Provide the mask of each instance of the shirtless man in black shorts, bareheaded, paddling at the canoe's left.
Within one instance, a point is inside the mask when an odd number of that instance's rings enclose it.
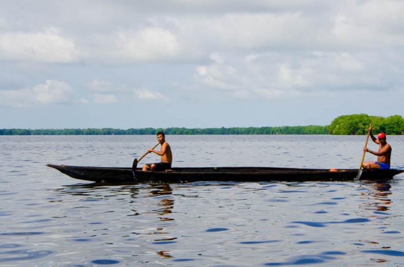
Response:
[[[161,156],[161,162],[150,163],[143,165],[142,171],[165,171],[171,169],[171,163],[173,162],[173,154],[171,153],[171,147],[166,142],[166,137],[163,132],[157,133],[157,140],[161,144],[160,151],[148,149],[147,151],[156,153]]]

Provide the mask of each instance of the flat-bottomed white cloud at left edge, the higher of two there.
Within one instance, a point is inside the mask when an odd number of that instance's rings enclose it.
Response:
[[[73,63],[78,61],[78,54],[74,41],[54,28],[43,32],[0,33],[0,60]]]

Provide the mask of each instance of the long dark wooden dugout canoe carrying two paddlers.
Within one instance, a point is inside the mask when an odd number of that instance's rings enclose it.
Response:
[[[70,177],[97,183],[187,183],[196,181],[270,182],[270,181],[353,181],[358,169],[297,169],[271,167],[172,168],[165,172],[143,172],[137,168],[85,167],[48,164]],[[388,180],[404,170],[363,170],[361,180]]]

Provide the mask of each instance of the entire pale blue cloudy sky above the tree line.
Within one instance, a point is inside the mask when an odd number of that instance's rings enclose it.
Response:
[[[0,128],[404,116],[404,1],[2,1]]]

